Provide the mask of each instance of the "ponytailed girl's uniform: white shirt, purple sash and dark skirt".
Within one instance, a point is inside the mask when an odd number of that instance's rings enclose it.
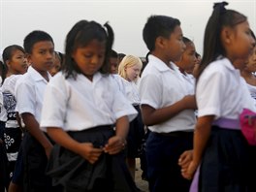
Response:
[[[240,71],[219,57],[201,75],[196,95],[198,116],[214,115],[197,191],[247,191],[248,144],[240,131],[239,115],[243,108],[255,108]]]

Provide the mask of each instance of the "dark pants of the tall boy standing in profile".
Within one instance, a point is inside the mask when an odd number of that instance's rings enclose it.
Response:
[[[190,181],[180,174],[180,154],[192,149],[193,133],[160,135],[151,132],[146,141],[147,176],[150,192],[187,192]]]

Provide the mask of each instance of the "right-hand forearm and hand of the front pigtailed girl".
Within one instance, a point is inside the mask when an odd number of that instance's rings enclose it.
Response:
[[[126,144],[126,136],[129,131],[129,120],[127,116],[122,116],[116,120],[115,136],[110,138],[108,144],[105,145],[104,151],[110,154],[116,154],[124,149]]]

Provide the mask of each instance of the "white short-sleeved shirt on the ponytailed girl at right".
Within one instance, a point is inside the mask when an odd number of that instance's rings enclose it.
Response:
[[[243,108],[254,111],[240,71],[227,58],[221,58],[208,65],[196,87],[198,116],[215,115],[215,119],[238,119]]]

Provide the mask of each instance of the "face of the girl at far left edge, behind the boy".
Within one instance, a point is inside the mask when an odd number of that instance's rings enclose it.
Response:
[[[25,53],[19,49],[14,50],[12,58],[8,61],[8,67],[14,74],[24,74],[28,64]]]

